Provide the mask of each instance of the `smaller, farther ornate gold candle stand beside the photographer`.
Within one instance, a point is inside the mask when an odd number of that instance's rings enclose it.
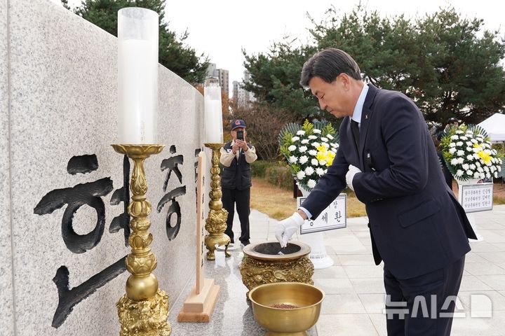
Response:
[[[209,202],[209,214],[206,220],[206,230],[209,232],[206,235],[206,246],[208,249],[207,260],[215,260],[215,246],[224,245],[224,255],[227,257],[231,256],[228,252],[228,245],[230,243],[230,238],[224,234],[227,228],[227,218],[228,211],[222,209],[222,191],[221,191],[221,179],[220,179],[220,148],[223,144],[205,144],[206,147],[211,148],[213,151],[212,157],[212,167],[210,168],[210,202]]]

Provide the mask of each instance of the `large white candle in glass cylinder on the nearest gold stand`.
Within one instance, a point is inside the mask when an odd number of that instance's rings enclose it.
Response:
[[[119,144],[156,144],[159,15],[118,11]]]

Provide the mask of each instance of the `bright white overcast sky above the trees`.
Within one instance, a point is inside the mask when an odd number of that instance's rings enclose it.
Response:
[[[231,97],[231,83],[241,82],[245,70],[242,49],[248,55],[268,52],[272,43],[286,35],[307,44],[308,29],[313,27],[307,13],[321,22],[330,6],[342,15],[360,2],[382,16],[404,14],[407,18],[454,6],[463,17],[483,19],[485,29],[499,29],[505,37],[505,1],[501,0],[166,0],[165,16],[171,31],[182,34],[187,29],[185,42],[197,55],[203,53],[218,69],[229,71]],[[79,3],[69,0],[71,6]]]

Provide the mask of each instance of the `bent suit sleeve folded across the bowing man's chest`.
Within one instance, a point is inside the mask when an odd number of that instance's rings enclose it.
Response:
[[[428,182],[426,123],[417,107],[405,97],[395,97],[385,106],[375,123],[380,123],[389,167],[377,172],[354,176],[356,197],[363,203],[412,195],[424,189]]]

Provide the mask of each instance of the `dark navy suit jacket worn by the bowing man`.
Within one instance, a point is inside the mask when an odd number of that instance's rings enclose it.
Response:
[[[470,251],[476,239],[444,181],[422,113],[400,92],[369,85],[354,145],[349,118],[340,126],[340,146],[302,207],[316,218],[346,187],[349,165],[358,200],[366,206],[375,263],[398,279],[445,267]]]

